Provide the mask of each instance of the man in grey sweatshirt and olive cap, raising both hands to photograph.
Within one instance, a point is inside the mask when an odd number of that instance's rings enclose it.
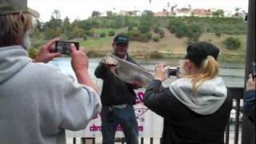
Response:
[[[82,130],[102,107],[82,48],[71,45],[78,82],[46,63],[54,38],[28,57],[32,16],[26,0],[0,0],[0,143],[65,144],[65,130]]]

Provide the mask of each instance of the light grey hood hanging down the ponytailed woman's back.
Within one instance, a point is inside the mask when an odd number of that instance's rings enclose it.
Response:
[[[214,114],[227,96],[225,83],[220,77],[206,80],[198,87],[196,93],[192,92],[190,78],[180,78],[171,83],[170,91],[186,107],[202,115]]]

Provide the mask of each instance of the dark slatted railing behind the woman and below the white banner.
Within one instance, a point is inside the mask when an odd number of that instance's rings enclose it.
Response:
[[[241,131],[241,129],[239,129],[239,124],[240,124],[239,118],[240,118],[240,113],[242,112],[242,107],[240,106],[240,103],[241,103],[240,100],[243,99],[244,90],[241,87],[229,87],[229,90],[232,95],[233,103],[235,104],[235,106],[233,105],[233,110],[236,110],[236,112],[234,117],[234,129],[230,130],[230,123],[233,122],[233,119],[231,119],[231,117],[229,118],[229,121],[227,123],[226,131],[225,131],[225,144],[231,144],[230,131],[233,131],[233,130],[234,130],[234,144],[238,144],[239,131]],[[118,140],[119,140],[118,142],[121,142],[122,144],[126,143],[125,138],[120,138]],[[77,141],[80,141],[81,144],[86,144],[86,142],[88,144],[95,144],[96,140],[95,138],[73,138],[73,144],[77,144],[78,143]],[[140,138],[140,143],[144,144],[144,138]],[[154,138],[150,138],[150,144],[154,144]]]

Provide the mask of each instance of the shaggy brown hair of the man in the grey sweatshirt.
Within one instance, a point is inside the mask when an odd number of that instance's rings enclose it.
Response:
[[[32,16],[28,13],[0,15],[0,46],[17,45],[32,29]]]

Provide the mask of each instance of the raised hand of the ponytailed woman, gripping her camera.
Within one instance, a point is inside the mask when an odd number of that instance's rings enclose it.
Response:
[[[158,65],[156,65],[154,79],[157,79],[161,82],[166,80],[168,69],[169,69],[169,66],[166,66],[164,63],[159,63]]]

